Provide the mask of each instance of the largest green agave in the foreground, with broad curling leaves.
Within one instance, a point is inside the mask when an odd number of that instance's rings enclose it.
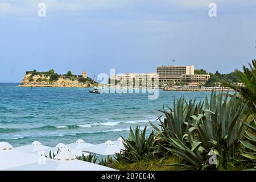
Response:
[[[177,105],[179,103],[183,102],[178,101]],[[178,113],[176,109],[182,110],[182,105],[180,108],[174,107],[170,115]],[[172,166],[179,165],[181,169],[205,170],[221,169],[232,165],[240,145],[239,139],[245,133],[242,125],[247,118],[245,109],[246,105],[237,100],[235,96],[229,98],[228,94],[223,92],[216,96],[213,90],[210,102],[207,97],[205,98],[204,110],[196,115],[190,115],[193,121],[188,119],[188,122],[182,123],[177,117],[173,117],[171,121],[167,118],[166,124],[160,121],[162,130],[157,127],[155,129],[158,130],[157,137],[166,141],[162,147],[185,162],[172,164]],[[182,118],[182,113],[176,115]],[[168,122],[175,123],[176,121],[179,123],[178,126],[168,126]],[[208,161],[208,155],[213,152],[218,156],[214,163],[216,165]]]

